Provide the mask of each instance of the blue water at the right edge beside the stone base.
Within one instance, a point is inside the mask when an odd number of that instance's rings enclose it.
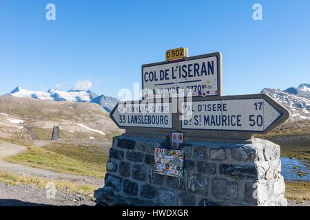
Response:
[[[285,180],[289,181],[310,181],[310,169],[302,164],[299,159],[291,159],[288,157],[281,157],[282,168],[281,175]],[[298,171],[302,175],[298,175]]]

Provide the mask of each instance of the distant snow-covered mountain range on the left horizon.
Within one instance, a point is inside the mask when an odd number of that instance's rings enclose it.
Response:
[[[36,98],[39,100],[51,101],[71,101],[71,102],[90,102],[97,97],[93,91],[69,90],[61,91],[50,89],[48,91],[31,91],[18,86],[8,96]]]

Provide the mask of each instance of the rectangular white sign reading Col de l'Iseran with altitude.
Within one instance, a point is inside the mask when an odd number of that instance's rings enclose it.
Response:
[[[185,57],[183,61],[142,66],[143,98],[220,96],[222,92],[220,53]]]

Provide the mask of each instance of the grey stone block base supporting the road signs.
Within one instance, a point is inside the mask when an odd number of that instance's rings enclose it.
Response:
[[[108,206],[287,206],[280,147],[186,142],[183,178],[153,172],[163,140],[114,137],[105,186],[96,203]]]

